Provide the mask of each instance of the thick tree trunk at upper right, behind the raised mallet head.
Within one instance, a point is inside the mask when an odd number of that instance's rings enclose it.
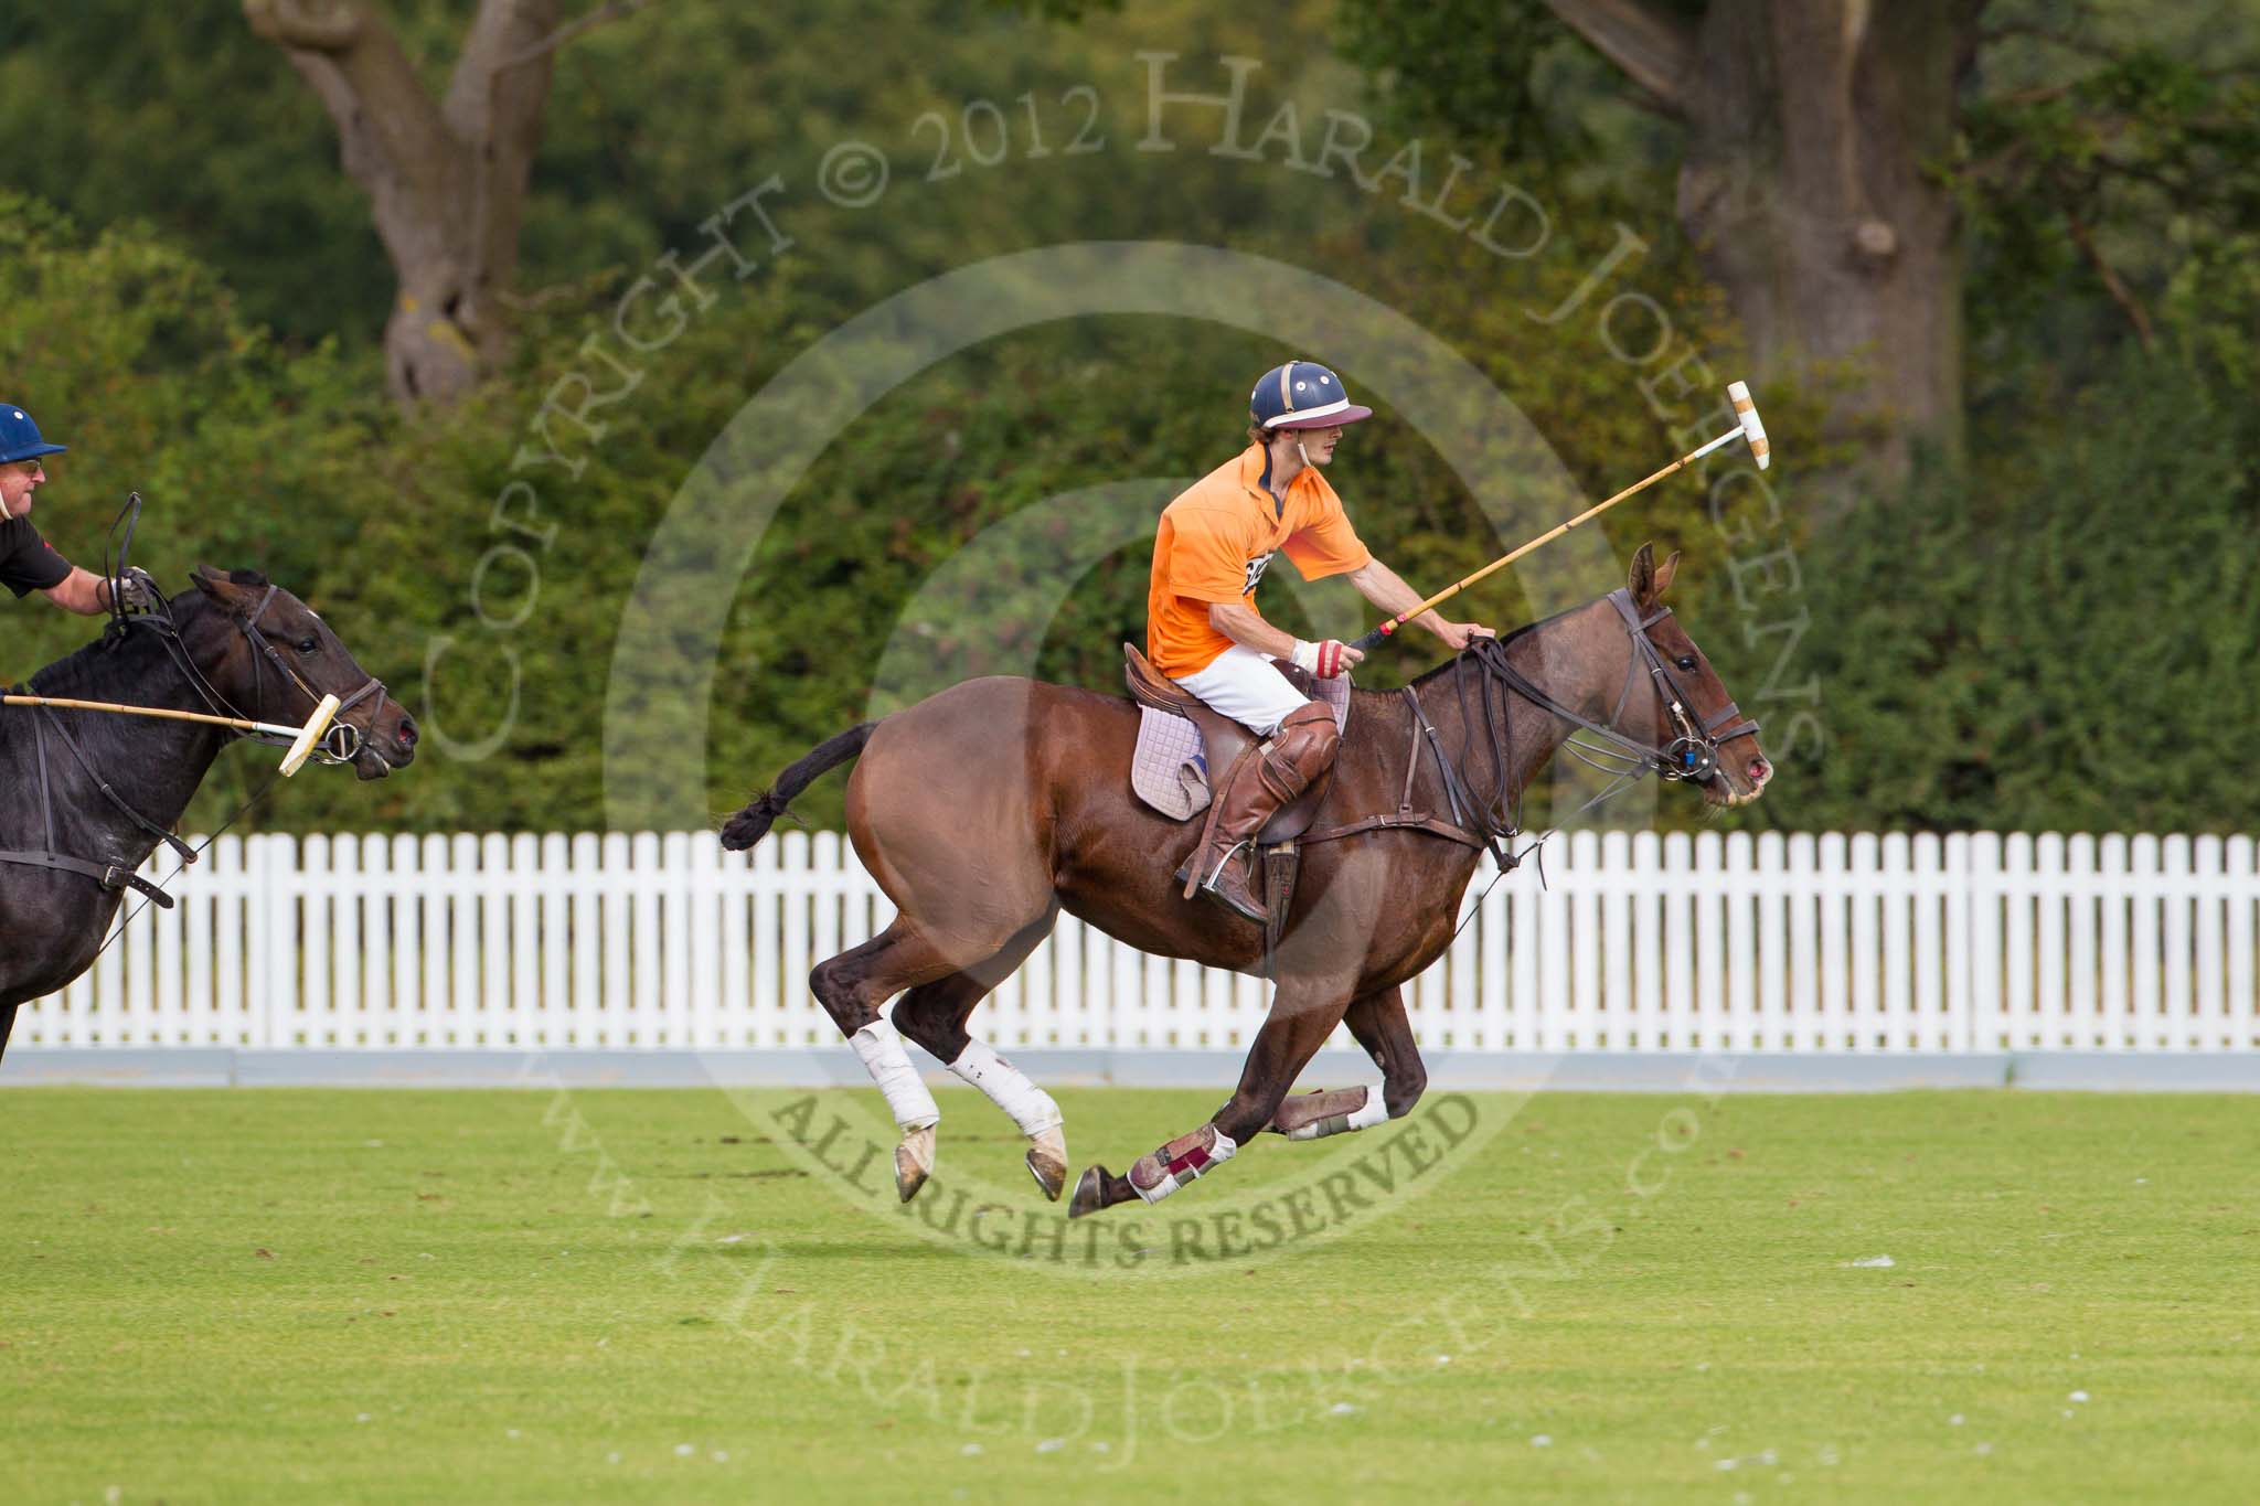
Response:
[[[1962,246],[1928,167],[1953,145],[1984,0],[1548,0],[1688,124],[1679,224],[1756,377],[1844,382],[1833,429],[1885,474],[1962,445]]]

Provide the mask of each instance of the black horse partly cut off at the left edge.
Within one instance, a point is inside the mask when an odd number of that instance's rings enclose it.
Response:
[[[199,569],[194,585],[38,671],[32,693],[264,723],[305,723],[330,693],[346,702],[337,720],[350,729],[332,747],[362,779],[416,756],[416,723],[312,607],[251,571]],[[0,849],[9,853],[0,860],[0,1050],[20,1002],[93,964],[124,876],[160,840],[176,842],[174,822],[237,736],[147,716],[0,709]]]

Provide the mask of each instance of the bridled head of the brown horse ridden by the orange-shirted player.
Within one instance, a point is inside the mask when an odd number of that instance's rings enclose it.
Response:
[[[1625,580],[1632,605],[1625,628],[1634,634],[1627,680],[1643,677],[1654,691],[1627,693],[1618,729],[1666,750],[1681,770],[1666,770],[1666,777],[1700,783],[1713,806],[1747,806],[1765,793],[1774,765],[1758,747],[1758,725],[1736,709],[1711,659],[1663,605],[1677,569],[1677,553],[1657,564],[1654,544],[1641,544],[1632,555]],[[1652,653],[1643,653],[1641,643]]]

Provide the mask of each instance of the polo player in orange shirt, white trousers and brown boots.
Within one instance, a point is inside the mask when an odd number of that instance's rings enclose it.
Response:
[[[1365,655],[1336,639],[1306,643],[1272,628],[1257,610],[1257,583],[1284,551],[1304,580],[1349,576],[1365,601],[1392,616],[1422,603],[1358,542],[1342,499],[1320,474],[1342,429],[1372,413],[1349,402],[1342,379],[1318,361],[1263,373],[1248,400],[1248,449],[1168,504],[1153,546],[1146,657],[1216,711],[1270,738],[1270,752],[1243,759],[1229,779],[1227,770],[1211,770],[1225,781],[1216,793],[1216,826],[1177,878],[1198,872],[1202,894],[1259,926],[1270,912],[1250,883],[1254,835],[1327,772],[1340,743],[1333,711],[1304,698],[1272,659],[1331,680]],[[1492,637],[1489,628],[1449,623],[1435,612],[1412,621],[1453,653],[1471,637]]]

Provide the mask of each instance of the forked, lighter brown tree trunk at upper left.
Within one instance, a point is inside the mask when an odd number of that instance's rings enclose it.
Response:
[[[527,181],[549,97],[558,0],[481,0],[445,99],[416,77],[366,0],[244,0],[337,124],[368,190],[400,291],[384,377],[402,402],[447,404],[508,350]]]

